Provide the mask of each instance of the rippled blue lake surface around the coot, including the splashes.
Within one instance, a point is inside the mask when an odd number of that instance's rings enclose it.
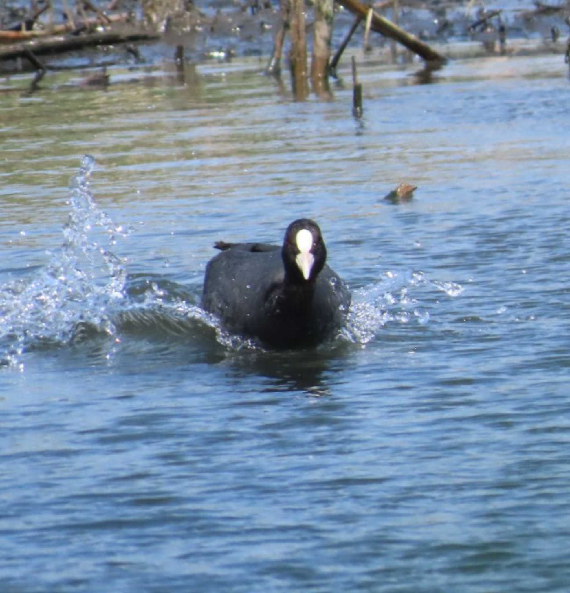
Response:
[[[567,591],[562,56],[263,65],[0,82],[2,591]],[[299,216],[354,302],[266,352],[204,267]]]

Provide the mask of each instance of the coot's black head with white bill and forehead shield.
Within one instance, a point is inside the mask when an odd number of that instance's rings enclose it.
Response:
[[[281,250],[286,278],[291,282],[312,282],[327,259],[319,225],[300,218],[287,227]]]

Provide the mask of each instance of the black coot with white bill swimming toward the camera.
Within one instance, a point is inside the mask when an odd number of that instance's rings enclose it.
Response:
[[[206,266],[202,308],[234,333],[274,348],[316,346],[345,320],[351,294],[326,265],[319,225],[292,222],[283,247],[224,243]]]

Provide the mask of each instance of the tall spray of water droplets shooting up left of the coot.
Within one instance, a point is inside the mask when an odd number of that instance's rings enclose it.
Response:
[[[113,334],[112,312],[125,298],[125,262],[110,251],[131,229],[117,225],[94,202],[85,155],[70,182],[71,212],[60,250],[33,276],[0,287],[0,364],[23,368],[28,349],[72,341],[78,324]]]

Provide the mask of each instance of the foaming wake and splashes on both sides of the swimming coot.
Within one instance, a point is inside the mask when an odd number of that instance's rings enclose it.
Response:
[[[125,260],[114,251],[117,240],[134,229],[116,224],[96,205],[88,181],[94,164],[85,156],[71,179],[60,250],[31,276],[0,286],[0,364],[21,369],[28,350],[75,345],[94,334],[118,342],[121,333],[184,339],[207,333],[230,350],[259,349],[253,340],[222,330],[196,304],[196,295],[180,285],[128,275]],[[389,323],[427,324],[428,311],[412,297],[421,287],[449,297],[463,291],[455,283],[428,280],[422,272],[386,272],[353,293],[337,341],[365,345]]]

